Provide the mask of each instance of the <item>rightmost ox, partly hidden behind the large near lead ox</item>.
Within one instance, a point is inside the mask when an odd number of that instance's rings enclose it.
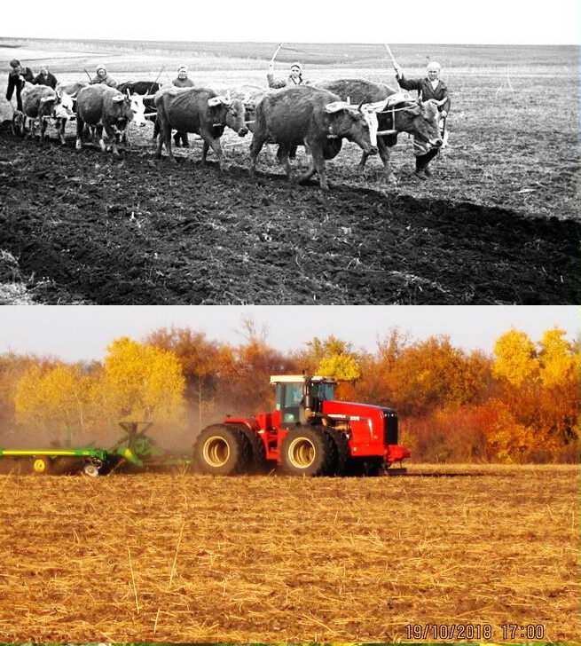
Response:
[[[372,83],[365,79],[337,79],[318,83],[318,87],[334,92],[343,100],[350,100],[352,103],[374,104],[378,110],[377,147],[385,169],[385,177],[391,182],[395,180],[389,163],[389,147],[396,145],[397,133],[409,132],[414,138],[428,142],[429,146],[435,148],[443,144],[438,125],[438,111],[430,101],[418,103],[388,85]],[[389,98],[392,98],[393,103]],[[381,132],[386,131],[389,134],[381,135]],[[360,172],[364,172],[368,156],[364,151],[359,162]]]

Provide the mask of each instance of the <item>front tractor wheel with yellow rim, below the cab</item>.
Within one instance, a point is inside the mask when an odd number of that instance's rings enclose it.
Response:
[[[280,448],[282,467],[290,476],[331,476],[335,445],[321,426],[302,426],[288,432]]]

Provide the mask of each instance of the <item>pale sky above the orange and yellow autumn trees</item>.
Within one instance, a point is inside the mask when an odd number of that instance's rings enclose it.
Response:
[[[208,339],[242,343],[241,321],[268,330],[280,351],[302,347],[314,336],[335,335],[356,348],[376,349],[378,337],[400,327],[415,339],[445,334],[470,350],[492,351],[499,335],[516,327],[538,341],[546,329],[563,328],[572,341],[581,334],[579,310],[563,306],[4,306],[0,308],[0,353],[51,355],[68,361],[103,358],[114,338],[141,340],[158,327],[192,327]]]

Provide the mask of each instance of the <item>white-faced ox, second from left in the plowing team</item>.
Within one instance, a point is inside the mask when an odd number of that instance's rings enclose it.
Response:
[[[125,130],[132,119],[131,98],[127,95],[103,83],[82,88],[76,99],[76,149],[80,150],[82,147],[82,131],[86,123],[96,130],[101,150],[105,150],[105,129],[113,154],[119,155],[116,134]]]

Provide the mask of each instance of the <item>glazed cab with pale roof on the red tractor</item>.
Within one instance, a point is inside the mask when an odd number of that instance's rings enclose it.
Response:
[[[307,424],[321,412],[322,402],[333,400],[337,382],[332,377],[280,374],[271,377],[276,386],[276,409],[282,426]]]

